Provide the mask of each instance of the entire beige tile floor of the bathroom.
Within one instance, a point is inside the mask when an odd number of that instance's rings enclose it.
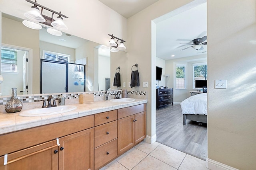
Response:
[[[208,170],[206,161],[160,143],[142,141],[100,170]]]

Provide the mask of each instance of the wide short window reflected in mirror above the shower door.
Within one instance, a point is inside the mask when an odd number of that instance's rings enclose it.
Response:
[[[69,63],[70,62],[70,55],[66,54],[60,54],[60,53],[54,53],[51,51],[43,51],[44,53],[44,59],[46,60],[52,60],[52,61],[62,61]]]

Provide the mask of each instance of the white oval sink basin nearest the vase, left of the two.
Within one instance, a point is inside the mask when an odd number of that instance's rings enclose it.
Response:
[[[47,107],[30,109],[20,112],[20,116],[46,116],[46,115],[56,115],[60,113],[65,113],[67,111],[72,111],[76,109],[76,106],[57,106],[57,107]]]

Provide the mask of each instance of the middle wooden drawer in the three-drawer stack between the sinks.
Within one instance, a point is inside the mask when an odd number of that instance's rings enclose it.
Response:
[[[94,148],[117,138],[117,120],[94,127]]]

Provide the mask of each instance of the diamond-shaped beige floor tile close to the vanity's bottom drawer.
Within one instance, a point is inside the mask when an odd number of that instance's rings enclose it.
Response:
[[[116,161],[131,170],[134,166],[136,166],[141,160],[143,160],[148,154],[138,150],[136,148],[132,148],[116,158]]]

